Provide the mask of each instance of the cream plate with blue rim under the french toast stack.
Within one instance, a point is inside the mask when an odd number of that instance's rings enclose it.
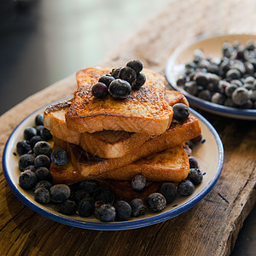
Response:
[[[154,214],[148,212],[142,217],[131,218],[125,222],[102,223],[95,217],[82,218],[79,215],[66,216],[58,212],[54,205],[39,204],[34,200],[32,191],[21,189],[19,185],[20,170],[18,168],[19,156],[16,153],[16,143],[22,139],[24,129],[27,126],[34,125],[36,115],[43,112],[44,108],[40,108],[27,116],[20,125],[17,125],[10,135],[3,151],[3,173],[10,189],[12,189],[20,201],[33,211],[61,224],[90,230],[130,230],[160,223],[187,211],[190,207],[195,206],[196,203],[201,201],[217,182],[224,165],[224,148],[218,137],[218,133],[206,119],[199,113],[196,113],[195,110],[190,109],[190,112],[199,119],[202,129],[202,143],[195,147],[193,155],[197,158],[201,170],[204,173],[203,182],[196,187],[192,195],[188,197],[177,197],[172,204],[168,205],[160,213]]]

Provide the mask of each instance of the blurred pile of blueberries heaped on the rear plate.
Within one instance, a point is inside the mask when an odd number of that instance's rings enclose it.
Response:
[[[231,108],[256,108],[256,41],[224,43],[221,59],[196,49],[177,86],[190,95]]]

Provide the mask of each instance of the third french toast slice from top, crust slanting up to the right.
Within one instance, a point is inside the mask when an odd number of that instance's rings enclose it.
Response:
[[[201,127],[198,120],[189,116],[183,122],[172,122],[170,128],[159,136],[151,137],[147,142],[143,143],[139,150],[125,154],[121,158],[102,159],[84,151],[79,146],[71,143],[65,143],[58,138],[54,138],[55,145],[66,148],[70,155],[71,162],[79,173],[79,178],[91,179],[101,176],[103,173],[110,172],[121,166],[126,166],[132,162],[154,154],[168,148],[182,145],[186,141],[197,137],[201,134]],[[73,183],[73,175],[68,174],[67,170],[53,174],[56,180],[61,179],[63,183]]]

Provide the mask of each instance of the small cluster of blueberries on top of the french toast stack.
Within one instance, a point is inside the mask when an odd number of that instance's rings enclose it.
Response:
[[[110,94],[115,99],[125,99],[132,89],[138,90],[145,84],[146,76],[142,70],[142,61],[129,61],[126,67],[115,68],[109,75],[103,75],[92,85],[91,94],[97,98]]]

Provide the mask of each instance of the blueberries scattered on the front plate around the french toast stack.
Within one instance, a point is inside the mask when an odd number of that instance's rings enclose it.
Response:
[[[177,119],[187,118],[184,106],[177,105],[177,109],[181,108],[181,113],[177,112]],[[159,192],[149,195],[147,201],[139,198],[129,202],[116,200],[111,189],[99,186],[96,181],[82,181],[70,186],[52,183],[50,163],[65,165],[68,155],[63,148],[53,150],[50,142],[47,142],[52,137],[49,130],[44,128],[42,114],[37,115],[35,126],[27,127],[23,135],[24,139],[16,144],[17,153],[20,154],[20,187],[33,190],[36,201],[42,204],[53,203],[66,215],[78,213],[81,217],[89,217],[95,214],[99,220],[109,222],[128,220],[131,216],[138,217],[146,211],[160,212],[178,195],[191,195],[203,177],[195,158],[189,157],[189,176],[183,182],[162,183]],[[189,147],[200,142],[201,136],[196,137],[188,142]],[[143,191],[146,183],[145,177],[137,175],[131,180],[131,187],[136,191]]]

